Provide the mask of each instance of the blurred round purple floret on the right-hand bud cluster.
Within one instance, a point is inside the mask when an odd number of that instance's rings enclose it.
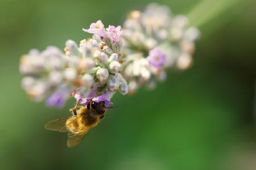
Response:
[[[158,48],[150,50],[149,56],[147,57],[148,61],[153,67],[162,67],[166,62],[166,54],[164,54]]]

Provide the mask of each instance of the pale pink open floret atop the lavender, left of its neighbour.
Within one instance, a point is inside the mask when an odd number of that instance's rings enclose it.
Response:
[[[106,30],[104,28],[104,24],[101,22],[101,20],[97,20],[96,23],[90,24],[89,29],[82,29],[82,31],[88,32],[88,33],[93,33],[97,34],[103,39],[106,37]]]

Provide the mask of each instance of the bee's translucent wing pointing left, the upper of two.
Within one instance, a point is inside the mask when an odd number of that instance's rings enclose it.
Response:
[[[47,130],[53,131],[60,131],[60,132],[67,132],[66,122],[69,118],[73,118],[74,120],[76,117],[66,117],[66,118],[57,118],[55,120],[49,121],[44,128]]]

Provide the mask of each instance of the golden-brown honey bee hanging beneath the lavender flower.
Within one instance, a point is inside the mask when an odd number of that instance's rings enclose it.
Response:
[[[75,147],[84,139],[91,128],[98,125],[106,113],[105,101],[95,102],[90,100],[86,107],[75,107],[72,109],[73,116],[58,118],[49,121],[45,128],[47,130],[67,132],[68,147]]]

